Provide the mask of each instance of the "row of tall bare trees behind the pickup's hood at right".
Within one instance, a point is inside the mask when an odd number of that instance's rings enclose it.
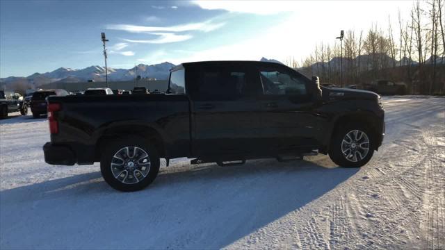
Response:
[[[320,76],[322,83],[360,88],[371,81],[389,80],[405,83],[412,94],[445,94],[444,1],[413,2],[409,17],[398,12],[397,27],[391,26],[389,15],[385,28],[347,30],[343,56],[336,40],[316,44],[300,62],[288,58],[285,63],[306,76]]]

